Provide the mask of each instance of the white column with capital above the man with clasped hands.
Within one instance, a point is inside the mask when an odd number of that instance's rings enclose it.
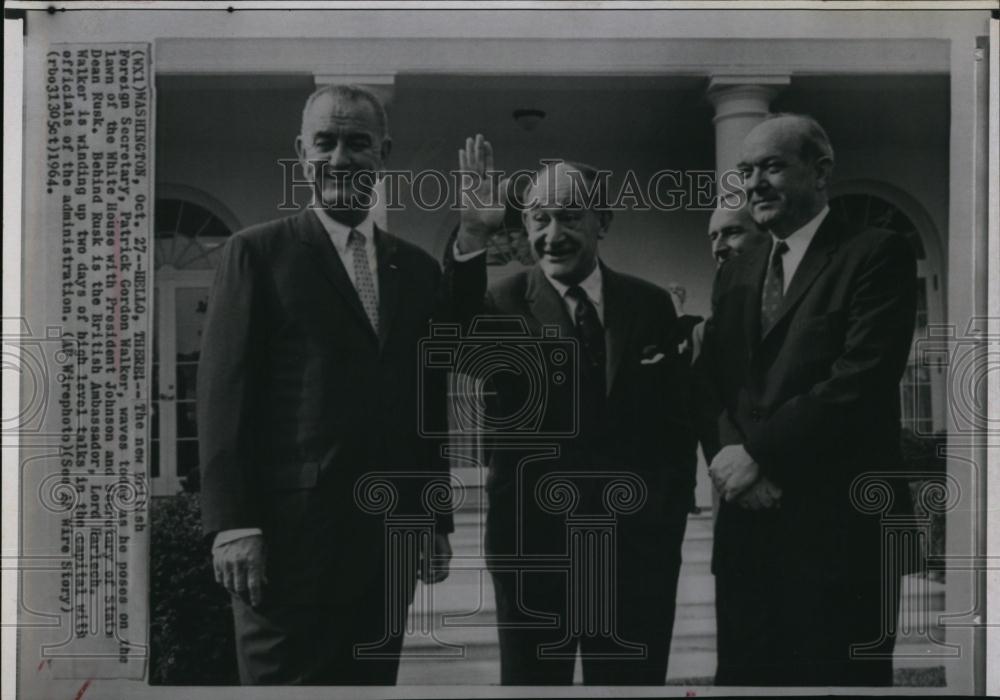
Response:
[[[715,107],[715,173],[735,168],[743,139],[764,121],[771,100],[788,86],[787,75],[715,75],[707,97]],[[730,188],[731,189],[731,188]]]

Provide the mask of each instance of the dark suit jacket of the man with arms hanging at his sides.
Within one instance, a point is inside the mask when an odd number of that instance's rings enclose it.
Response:
[[[336,580],[353,585],[381,576],[385,514],[359,506],[360,477],[443,469],[418,434],[418,402],[443,410],[443,395],[417,393],[440,270],[384,231],[375,245],[377,337],[308,210],[233,235],[209,303],[198,376],[204,529],[262,528],[269,578],[303,600],[324,595],[337,567]],[[420,507],[426,480],[394,483],[389,515]],[[450,529],[447,516],[440,524]]]

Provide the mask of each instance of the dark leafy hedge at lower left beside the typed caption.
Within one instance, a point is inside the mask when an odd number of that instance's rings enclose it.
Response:
[[[229,594],[212,575],[198,494],[154,498],[150,516],[149,682],[238,683]]]

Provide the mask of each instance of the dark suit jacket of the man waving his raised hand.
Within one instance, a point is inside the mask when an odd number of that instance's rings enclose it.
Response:
[[[608,513],[602,489],[609,479],[573,477],[582,491],[568,513],[539,506],[541,480],[567,471],[629,472],[645,493],[640,509],[617,516],[621,571],[650,580],[657,571],[676,576],[696,466],[690,372],[677,352],[676,313],[665,290],[603,265],[602,275],[606,404],[597,414],[566,393],[553,392],[540,432],[572,424],[576,411],[578,434],[529,438],[520,441],[519,448],[496,442],[487,485],[487,554],[565,555],[567,518]],[[543,326],[558,327],[564,339],[574,336],[562,299],[537,266],[487,292],[485,256],[465,263],[446,258],[445,284],[456,314],[466,321],[478,314],[513,316],[536,338]],[[552,378],[551,369],[546,381]],[[524,405],[526,392],[519,379],[510,373],[494,376],[498,415],[513,415]],[[540,452],[541,446],[554,451]],[[656,593],[663,595],[662,590]]]

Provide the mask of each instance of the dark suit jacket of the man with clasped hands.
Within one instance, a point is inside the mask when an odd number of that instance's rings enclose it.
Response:
[[[879,516],[856,507],[860,492],[852,497],[851,486],[901,462],[914,257],[901,235],[857,232],[828,214],[778,321],[760,338],[770,251],[760,246],[722,266],[703,361],[721,398],[721,444],[744,444],[784,496],[780,509],[760,513],[724,503],[713,567],[738,572],[747,558],[773,555],[788,573],[877,576]],[[893,489],[906,509],[905,483]]]

